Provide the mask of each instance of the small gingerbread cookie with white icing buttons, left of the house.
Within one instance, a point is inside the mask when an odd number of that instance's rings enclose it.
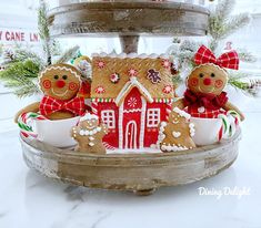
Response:
[[[78,126],[72,127],[71,136],[78,142],[77,152],[106,154],[102,138],[108,134],[108,127],[99,124],[99,117],[90,113],[80,118]]]

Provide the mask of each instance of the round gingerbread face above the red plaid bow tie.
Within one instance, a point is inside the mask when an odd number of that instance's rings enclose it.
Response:
[[[44,95],[71,100],[80,90],[80,72],[69,64],[50,65],[41,73],[39,84]]]

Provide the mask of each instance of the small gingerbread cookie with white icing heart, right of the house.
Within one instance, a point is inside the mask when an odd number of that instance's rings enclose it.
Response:
[[[174,107],[169,116],[169,122],[160,124],[158,146],[162,152],[178,152],[192,149],[195,144],[192,139],[194,136],[194,124],[189,122],[190,114]]]

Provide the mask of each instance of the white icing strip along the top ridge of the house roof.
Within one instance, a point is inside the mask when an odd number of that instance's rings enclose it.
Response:
[[[167,55],[167,54],[145,54],[145,53],[142,53],[142,54],[137,54],[137,53],[129,53],[129,54],[126,54],[126,53],[120,53],[120,54],[116,54],[114,52],[110,53],[110,54],[107,54],[104,52],[101,52],[100,54],[99,53],[93,53],[92,54],[92,58],[117,58],[117,59],[163,59],[163,60],[169,60],[170,56]]]

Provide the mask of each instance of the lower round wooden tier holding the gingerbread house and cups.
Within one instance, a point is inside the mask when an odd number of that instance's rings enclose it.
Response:
[[[241,132],[219,144],[160,154],[79,154],[21,137],[27,165],[42,175],[91,188],[150,195],[162,186],[190,184],[219,174],[237,159]]]

